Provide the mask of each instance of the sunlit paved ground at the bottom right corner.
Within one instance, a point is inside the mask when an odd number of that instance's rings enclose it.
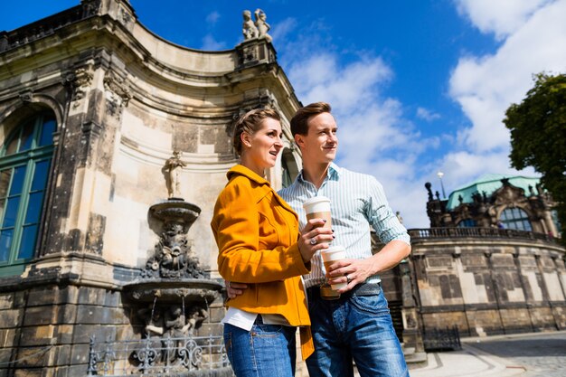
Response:
[[[564,377],[566,331],[462,339],[462,350],[429,353],[411,377]]]

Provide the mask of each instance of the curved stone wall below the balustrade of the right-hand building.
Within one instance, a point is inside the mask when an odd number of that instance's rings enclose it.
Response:
[[[557,243],[412,234],[425,331],[452,324],[480,336],[566,328],[564,250]]]

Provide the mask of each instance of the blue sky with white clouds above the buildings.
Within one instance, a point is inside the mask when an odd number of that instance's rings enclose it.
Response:
[[[131,0],[176,44],[232,49],[241,12],[261,8],[297,97],[325,100],[340,165],[375,175],[408,228],[428,227],[425,182],[446,192],[509,166],[505,109],[533,73],[566,72],[566,0]],[[79,0],[6,2],[10,31]],[[530,169],[520,174],[536,175]]]

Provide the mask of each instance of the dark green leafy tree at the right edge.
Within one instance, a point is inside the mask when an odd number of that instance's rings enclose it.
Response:
[[[533,166],[541,183],[558,204],[561,226],[566,226],[566,75],[539,73],[534,87],[520,104],[505,112],[511,130],[511,165]]]

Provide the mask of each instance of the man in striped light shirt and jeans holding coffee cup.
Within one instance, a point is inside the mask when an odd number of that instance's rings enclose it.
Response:
[[[310,377],[353,376],[354,359],[362,377],[408,376],[378,274],[410,254],[410,238],[373,176],[333,163],[338,138],[330,111],[327,103],[316,102],[299,108],[291,119],[303,170],[279,192],[297,212],[301,227],[307,221],[302,204],[317,195],[330,198],[333,244],[344,246],[348,256],[325,271],[316,255],[311,273],[304,277],[316,349],[307,359],[308,373]],[[374,255],[370,227],[385,244]],[[321,297],[319,287],[325,278],[330,284],[347,282],[340,298]],[[232,287],[245,286],[232,283]],[[237,293],[229,289],[229,295]]]

